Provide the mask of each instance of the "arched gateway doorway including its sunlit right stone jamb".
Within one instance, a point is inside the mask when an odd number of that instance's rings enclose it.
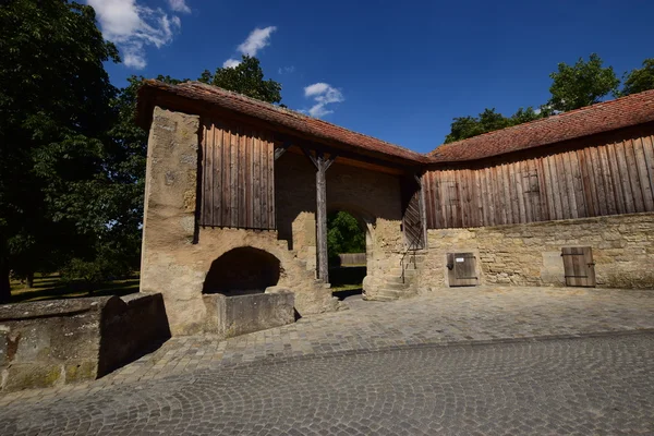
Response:
[[[329,282],[332,294],[340,300],[363,293],[363,280],[370,274],[373,258],[373,227],[374,219],[355,207],[334,204],[327,209]],[[340,232],[346,233],[346,244],[340,246],[344,250],[335,253],[335,239],[338,239],[335,234]]]

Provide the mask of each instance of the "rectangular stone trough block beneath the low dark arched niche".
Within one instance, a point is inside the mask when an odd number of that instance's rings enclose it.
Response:
[[[208,311],[207,330],[222,338],[280,327],[295,322],[292,292],[203,296]]]

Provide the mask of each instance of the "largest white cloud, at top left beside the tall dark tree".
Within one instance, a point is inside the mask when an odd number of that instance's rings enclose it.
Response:
[[[179,3],[170,0],[171,8],[173,2]],[[125,65],[131,68],[144,69],[145,47],[161,48],[172,41],[174,32],[181,27],[179,16],[168,15],[160,8],[137,4],[136,0],[87,0],[87,3],[95,9],[105,38],[118,45]]]

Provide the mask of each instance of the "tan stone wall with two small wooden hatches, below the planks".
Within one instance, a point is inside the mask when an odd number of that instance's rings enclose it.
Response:
[[[597,287],[654,289],[654,214],[429,230],[417,286],[449,286],[453,252],[475,254],[481,284],[565,286],[564,246],[592,247]]]

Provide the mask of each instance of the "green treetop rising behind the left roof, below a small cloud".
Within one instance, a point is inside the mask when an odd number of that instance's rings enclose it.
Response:
[[[281,101],[281,84],[269,78],[264,80],[264,71],[258,59],[244,55],[234,68],[218,68],[211,74],[205,70],[199,82],[243,94],[257,100],[278,104]]]

